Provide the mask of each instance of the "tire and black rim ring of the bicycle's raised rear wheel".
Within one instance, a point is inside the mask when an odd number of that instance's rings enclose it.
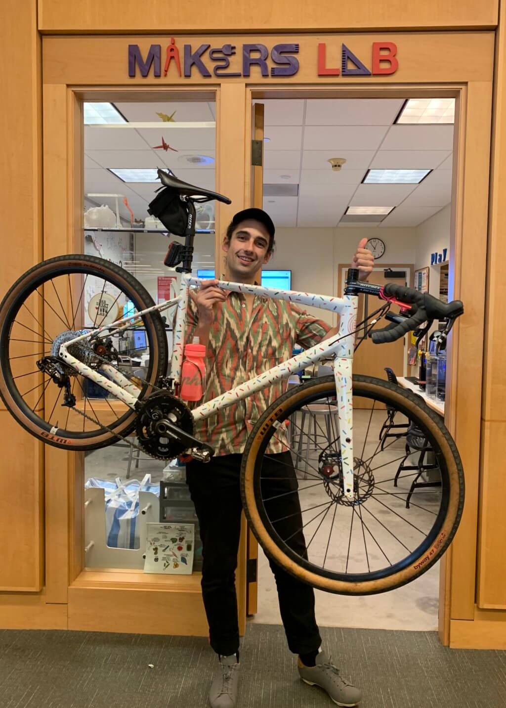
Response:
[[[68,273],[81,273],[98,278],[108,278],[113,285],[122,288],[123,292],[129,295],[133,302],[137,303],[137,309],[146,309],[153,307],[155,304],[149,292],[130,273],[127,273],[126,270],[115,265],[115,263],[104,261],[102,258],[96,258],[96,256],[81,254],[57,256],[34,265],[33,268],[30,268],[16,280],[0,304],[0,396],[6,405],[6,409],[16,421],[25,430],[28,430],[28,433],[42,440],[42,442],[64,450],[97,450],[100,447],[106,447],[113,442],[117,442],[125,435],[131,433],[135,426],[137,413],[135,411],[127,412],[115,421],[113,425],[109,426],[113,428],[115,434],[102,428],[100,431],[93,433],[93,435],[86,432],[69,435],[68,431],[65,435],[61,433],[58,435],[58,431],[56,433],[52,431],[49,424],[43,425],[42,419],[36,416],[33,411],[30,411],[29,406],[23,402],[16,384],[13,382],[8,360],[9,332],[13,318],[23,306],[25,299],[30,297],[35,288],[43,285],[51,277]],[[167,340],[160,313],[151,312],[145,315],[143,319],[146,336],[150,342],[152,359],[149,362],[146,382],[139,399],[148,390],[152,390],[152,386],[156,384],[156,381],[165,375],[167,367]]]

